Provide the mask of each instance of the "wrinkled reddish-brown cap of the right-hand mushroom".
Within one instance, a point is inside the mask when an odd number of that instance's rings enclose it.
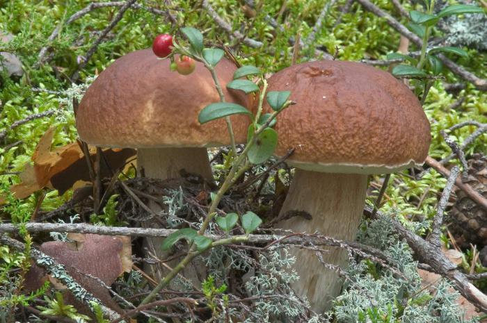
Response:
[[[429,121],[409,88],[381,69],[314,61],[273,74],[269,91],[291,91],[275,129],[276,155],[296,148],[290,165],[316,172],[385,174],[421,165]],[[269,110],[269,107],[266,107]]]

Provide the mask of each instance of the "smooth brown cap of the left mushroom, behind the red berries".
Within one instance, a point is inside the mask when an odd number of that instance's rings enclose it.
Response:
[[[79,137],[100,147],[218,147],[230,144],[225,119],[200,124],[198,114],[220,101],[209,70],[196,62],[187,76],[169,69],[151,49],[128,53],[107,67],[86,91],[77,110]],[[216,65],[226,101],[248,106],[243,92],[226,89],[237,69]],[[250,120],[232,116],[235,141],[246,142]]]

